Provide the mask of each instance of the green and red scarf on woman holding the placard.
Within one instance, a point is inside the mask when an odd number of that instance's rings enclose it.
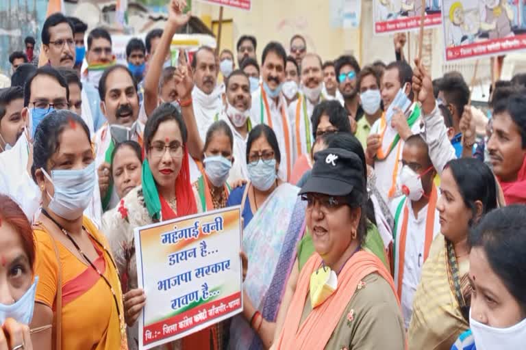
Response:
[[[151,173],[148,159],[142,162],[142,194],[149,215],[155,221],[164,221],[197,213],[192,185],[190,184],[190,167],[188,165],[188,150],[184,146],[184,157],[181,170],[175,179],[175,198],[177,212],[173,211],[168,202],[157,191],[157,184]]]

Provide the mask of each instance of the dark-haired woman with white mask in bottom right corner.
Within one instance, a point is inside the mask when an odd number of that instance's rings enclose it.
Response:
[[[526,343],[526,206],[488,213],[468,239],[470,330],[451,350],[523,349]]]

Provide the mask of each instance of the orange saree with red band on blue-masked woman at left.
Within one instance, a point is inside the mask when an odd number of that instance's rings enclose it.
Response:
[[[98,258],[93,261],[112,285],[117,305],[108,284],[89,265],[79,260],[66,246],[51,237],[47,228],[37,222],[34,226],[36,241],[35,275],[38,282],[35,301],[55,310],[59,264],[62,268],[62,349],[116,350],[128,349],[125,337],[123,293],[112,256],[99,245],[108,246],[105,237],[94,224],[84,217],[82,224],[90,234]],[[99,243],[95,242],[98,241]],[[57,261],[55,246],[60,258]],[[82,315],[82,317],[79,317]],[[53,334],[55,334],[53,317]],[[89,329],[89,332],[86,332]],[[54,335],[53,335],[54,336]]]

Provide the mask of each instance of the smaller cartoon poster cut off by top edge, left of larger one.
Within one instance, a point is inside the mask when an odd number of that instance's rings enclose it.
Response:
[[[390,34],[420,28],[424,12],[424,27],[442,24],[440,0],[373,0],[375,34]]]

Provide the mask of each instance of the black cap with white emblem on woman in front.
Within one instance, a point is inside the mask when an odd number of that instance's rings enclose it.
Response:
[[[321,193],[347,196],[351,191],[364,194],[364,164],[357,154],[342,148],[327,148],[314,154],[312,173],[299,194]]]

